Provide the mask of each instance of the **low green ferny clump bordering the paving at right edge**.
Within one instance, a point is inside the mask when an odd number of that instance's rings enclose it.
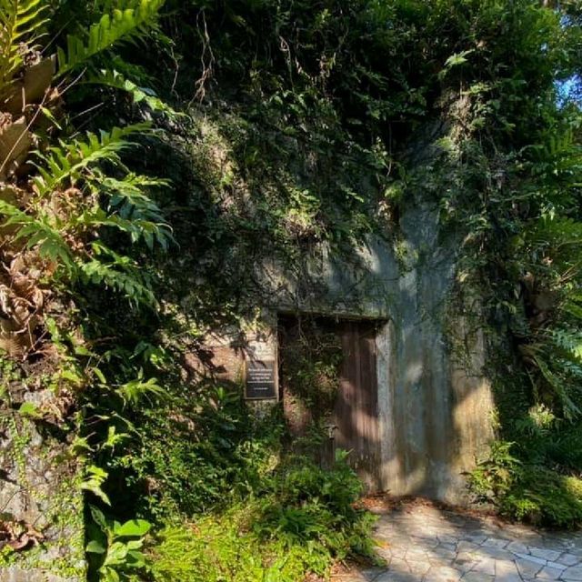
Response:
[[[582,479],[522,463],[512,447],[505,441],[494,443],[491,456],[469,476],[477,497],[493,503],[506,517],[544,526],[580,526]]]

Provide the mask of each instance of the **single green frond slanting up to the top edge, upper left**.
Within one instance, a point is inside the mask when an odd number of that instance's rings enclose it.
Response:
[[[134,40],[143,34],[147,25],[152,25],[165,0],[128,0],[120,8],[105,14],[99,22],[91,25],[86,39],[75,35],[66,38],[66,51],[57,50],[58,75],[65,75],[92,56],[101,53],[116,43]]]

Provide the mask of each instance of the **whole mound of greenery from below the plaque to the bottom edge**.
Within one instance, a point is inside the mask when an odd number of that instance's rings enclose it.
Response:
[[[283,455],[274,415],[256,418],[238,390],[213,386],[142,406],[135,437],[109,467],[114,482],[123,476],[130,490],[148,490],[126,511],[171,524],[151,549],[155,579],[296,580],[326,573],[336,559],[374,555],[346,454],[331,470]]]

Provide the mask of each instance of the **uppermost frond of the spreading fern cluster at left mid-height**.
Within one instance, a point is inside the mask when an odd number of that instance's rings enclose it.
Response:
[[[135,124],[114,127],[110,132],[102,131],[99,135],[89,132],[85,140],[60,141],[59,146],[51,147],[48,154],[37,154],[41,162],[36,165],[39,175],[34,178],[38,194],[45,196],[65,180],[74,183],[87,167],[98,162],[106,160],[119,165],[119,153],[132,146],[126,138],[144,134],[148,127],[147,124]]]

